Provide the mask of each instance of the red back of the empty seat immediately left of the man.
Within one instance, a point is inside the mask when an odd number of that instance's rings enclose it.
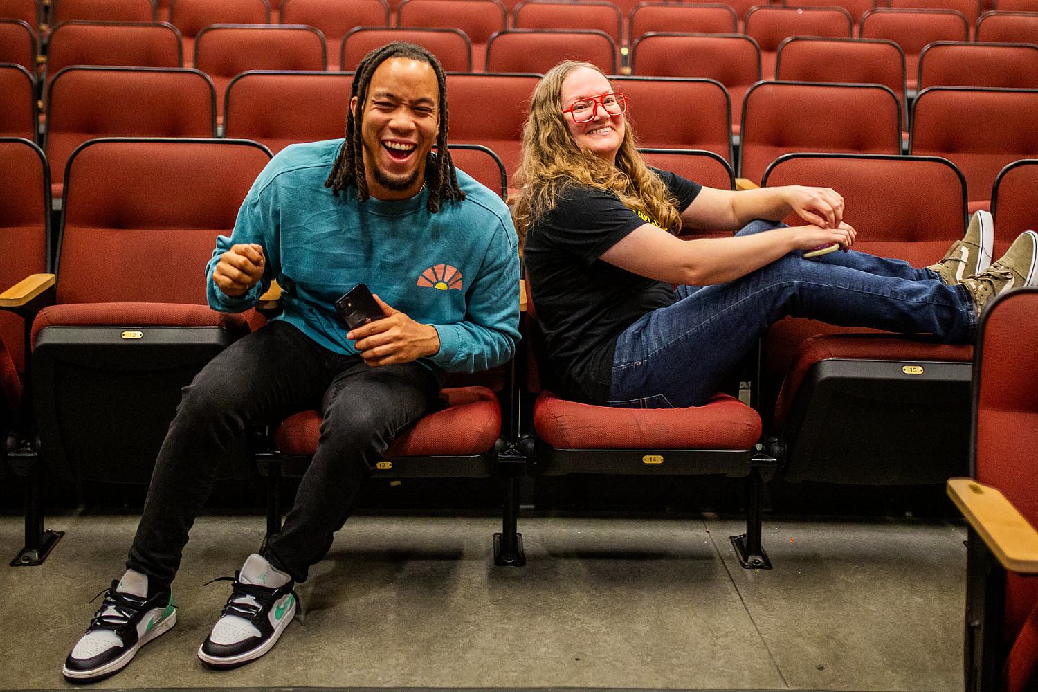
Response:
[[[206,304],[216,237],[230,234],[269,161],[262,145],[241,140],[84,144],[65,175],[58,303]]]

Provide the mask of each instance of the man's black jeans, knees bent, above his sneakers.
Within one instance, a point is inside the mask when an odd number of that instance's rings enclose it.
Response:
[[[436,376],[418,363],[372,367],[359,356],[328,351],[284,322],[239,339],[184,389],[127,568],[147,575],[153,592],[168,589],[230,440],[247,425],[319,408],[324,420],[317,453],[264,555],[305,581],[386,447],[432,408],[439,390]]]

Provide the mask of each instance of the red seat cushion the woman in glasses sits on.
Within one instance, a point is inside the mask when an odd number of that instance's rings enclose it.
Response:
[[[617,409],[543,391],[534,426],[559,449],[748,449],[761,437],[761,417],[728,394],[687,409]]]

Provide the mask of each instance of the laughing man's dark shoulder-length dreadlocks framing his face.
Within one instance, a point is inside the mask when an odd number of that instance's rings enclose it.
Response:
[[[346,141],[343,143],[332,166],[325,187],[331,188],[332,194],[338,196],[339,190],[351,185],[357,188],[357,201],[366,201],[371,196],[367,192],[367,177],[364,172],[363,141],[360,136],[360,120],[367,101],[367,86],[372,75],[389,58],[410,58],[418,62],[427,62],[436,73],[436,84],[439,88],[440,128],[436,135],[438,154],[429,153],[426,158],[426,186],[429,188],[429,201],[426,207],[431,214],[440,209],[440,199],[461,201],[465,193],[458,186],[458,174],[455,171],[450,153],[447,150],[447,85],[443,67],[436,56],[414,44],[395,41],[377,48],[360,61],[353,77],[353,88],[350,99],[357,98],[357,107],[346,114]]]

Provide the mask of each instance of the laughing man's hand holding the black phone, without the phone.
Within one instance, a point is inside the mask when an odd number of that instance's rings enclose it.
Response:
[[[355,327],[346,335],[368,365],[408,363],[440,351],[440,335],[432,325],[411,320],[373,296],[384,317]]]

